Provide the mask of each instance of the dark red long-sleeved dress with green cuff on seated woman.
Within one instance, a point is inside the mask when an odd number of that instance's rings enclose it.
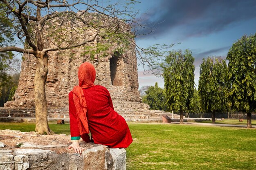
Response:
[[[108,90],[100,85],[83,88],[87,104],[89,130],[95,144],[103,144],[110,148],[127,148],[132,143],[132,136],[124,117],[113,107]],[[79,127],[73,92],[69,93],[70,132],[72,140],[79,140]],[[81,135],[85,142],[90,142],[88,134]]]

